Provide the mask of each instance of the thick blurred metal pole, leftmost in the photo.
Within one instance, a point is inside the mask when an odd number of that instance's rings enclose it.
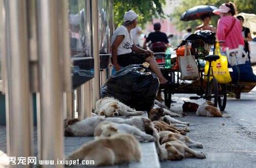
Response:
[[[9,156],[32,156],[32,95],[29,91],[29,47],[26,1],[5,1],[6,122]],[[18,167],[20,165],[10,165]],[[24,165],[23,167],[30,167]]]

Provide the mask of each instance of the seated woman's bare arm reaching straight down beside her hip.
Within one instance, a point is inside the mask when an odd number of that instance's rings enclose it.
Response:
[[[124,39],[124,35],[118,35],[114,41],[114,43],[112,44],[111,46],[111,50],[112,50],[112,63],[115,67],[115,70],[120,70],[121,67],[120,65],[118,64],[117,62],[117,48],[118,46],[121,44],[121,42],[123,41]]]

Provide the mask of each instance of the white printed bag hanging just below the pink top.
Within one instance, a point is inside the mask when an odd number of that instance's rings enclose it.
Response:
[[[245,53],[244,46],[239,45],[237,49],[226,48],[227,60],[230,66],[245,64],[248,60],[248,53]]]

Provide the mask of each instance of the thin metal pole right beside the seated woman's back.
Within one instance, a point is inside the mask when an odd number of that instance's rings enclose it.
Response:
[[[94,79],[93,79],[93,109],[95,103],[100,98],[100,74],[99,74],[99,17],[98,17],[98,1],[92,2],[92,41],[93,41],[93,57],[94,57]]]

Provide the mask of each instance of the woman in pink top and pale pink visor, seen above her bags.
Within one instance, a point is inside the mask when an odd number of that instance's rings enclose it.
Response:
[[[218,20],[217,39],[225,41],[222,43],[222,50],[225,51],[226,47],[237,49],[240,44],[244,45],[240,22],[234,17],[237,13],[236,6],[231,2],[225,3],[213,12],[221,16]]]

